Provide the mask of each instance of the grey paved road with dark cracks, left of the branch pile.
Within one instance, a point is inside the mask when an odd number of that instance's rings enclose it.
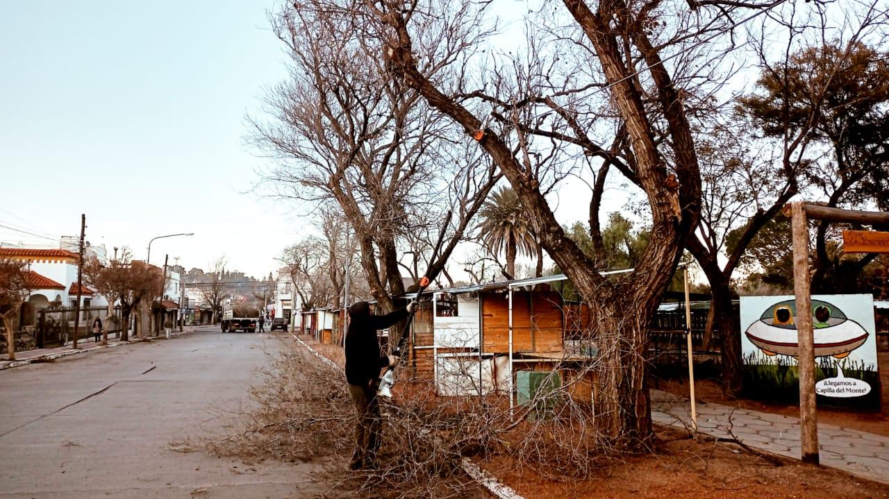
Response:
[[[0,371],[0,497],[312,497],[310,464],[245,465],[171,442],[220,428],[276,336],[219,329]],[[206,490],[201,490],[206,489]]]

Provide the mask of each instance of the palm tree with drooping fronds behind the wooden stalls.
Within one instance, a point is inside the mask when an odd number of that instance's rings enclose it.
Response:
[[[525,210],[511,187],[503,186],[491,194],[478,211],[481,217],[479,238],[494,255],[506,253],[506,271],[509,279],[516,276],[517,254],[540,257],[540,245],[525,217]],[[538,258],[540,259],[540,258]],[[540,265],[538,265],[540,266]]]

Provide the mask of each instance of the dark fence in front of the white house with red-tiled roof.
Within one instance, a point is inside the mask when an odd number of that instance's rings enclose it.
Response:
[[[73,308],[44,308],[38,312],[35,340],[37,348],[45,348],[54,345],[65,345],[74,338],[75,309]],[[97,306],[80,309],[80,321],[77,325],[77,338],[92,336],[92,321],[99,317],[102,326],[108,331],[108,336],[116,334],[120,336],[121,319],[120,307],[115,307],[108,320],[108,307]]]

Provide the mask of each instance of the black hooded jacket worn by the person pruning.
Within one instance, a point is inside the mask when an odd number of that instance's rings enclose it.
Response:
[[[346,381],[356,386],[367,386],[380,376],[380,369],[388,366],[388,355],[380,354],[377,331],[387,329],[407,318],[407,309],[399,308],[386,315],[373,315],[367,302],[348,307],[346,330]]]

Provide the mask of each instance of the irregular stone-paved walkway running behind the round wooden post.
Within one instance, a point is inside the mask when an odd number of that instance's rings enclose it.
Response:
[[[751,448],[799,459],[802,455],[799,419],[712,402],[697,406],[698,431],[712,437],[737,439]],[[652,390],[654,423],[691,428],[688,399]],[[889,437],[818,424],[821,465],[867,479],[889,483]]]

